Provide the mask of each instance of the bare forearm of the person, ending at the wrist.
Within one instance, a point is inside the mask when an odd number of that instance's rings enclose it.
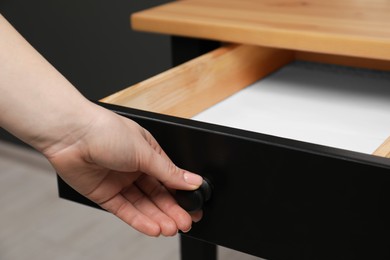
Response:
[[[0,125],[40,151],[91,120],[91,103],[1,15],[0,93]]]

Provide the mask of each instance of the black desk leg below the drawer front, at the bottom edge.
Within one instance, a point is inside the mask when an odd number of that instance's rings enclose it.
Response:
[[[217,246],[180,235],[181,260],[217,260]]]

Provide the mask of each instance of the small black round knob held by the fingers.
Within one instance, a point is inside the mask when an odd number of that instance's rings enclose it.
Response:
[[[196,211],[203,208],[206,201],[211,198],[212,188],[210,182],[203,179],[202,185],[193,191],[178,190],[175,198],[177,203],[186,211]]]

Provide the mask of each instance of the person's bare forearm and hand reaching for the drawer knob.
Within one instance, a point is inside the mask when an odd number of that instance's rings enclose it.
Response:
[[[136,122],[82,96],[0,15],[0,126],[41,152],[76,191],[149,236],[187,232],[175,189],[202,183]]]

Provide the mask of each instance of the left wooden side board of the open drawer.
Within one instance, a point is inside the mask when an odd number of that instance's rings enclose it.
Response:
[[[293,52],[259,46],[221,47],[102,99],[102,102],[192,117],[268,75]]]

